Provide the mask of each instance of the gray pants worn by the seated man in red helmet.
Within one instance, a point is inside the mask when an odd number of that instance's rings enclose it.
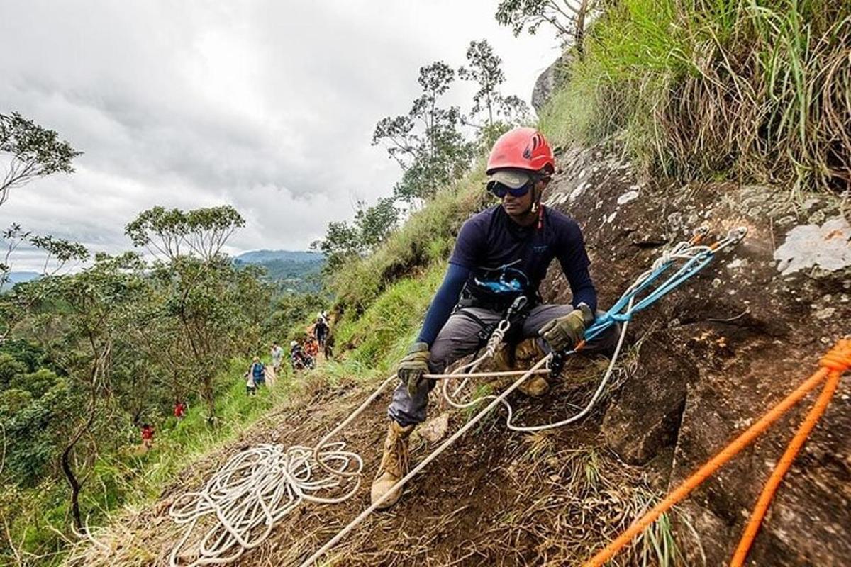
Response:
[[[573,310],[572,305],[555,305],[552,303],[529,309],[528,317],[523,321],[520,337],[538,337],[538,331],[542,326],[557,317],[568,315]],[[475,315],[475,317],[465,315],[465,313]],[[500,319],[502,319],[502,314],[490,309],[466,307],[455,311],[449,316],[446,325],[443,326],[431,345],[429,371],[432,374],[442,374],[447,366],[455,360],[474,352],[479,344],[478,333],[482,330],[482,324],[489,325]],[[593,353],[614,349],[618,334],[618,326],[610,326],[602,335],[589,342],[583,352]],[[544,349],[548,350],[542,339],[540,342]],[[405,384],[399,383],[396,391],[393,392],[393,401],[387,408],[387,415],[403,427],[407,427],[411,423],[425,422],[428,394],[435,384],[436,381],[434,380],[423,380],[416,395],[412,398],[408,394],[408,388],[405,387]]]

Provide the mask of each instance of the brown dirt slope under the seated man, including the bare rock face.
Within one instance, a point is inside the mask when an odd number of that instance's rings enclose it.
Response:
[[[744,224],[750,235],[734,254],[637,317],[630,338],[640,348],[625,357],[616,387],[591,417],[534,435],[506,432],[501,417],[489,418],[415,479],[402,502],[362,524],[337,548],[332,564],[579,564],[814,371],[828,344],[848,332],[847,268],[782,276],[774,260],[797,224],[838,216],[826,198],[796,213],[780,203],[782,196],[758,187],[642,184],[615,150],[603,148],[569,151],[560,164],[564,170],[548,199],[583,226],[603,305],[647,269],[662,246],[700,224],[722,233]],[[567,302],[556,268],[544,296]],[[517,394],[511,401],[528,423],[563,417],[590,393],[601,368],[600,361],[577,360],[546,399]],[[196,488],[241,447],[311,445],[372,387],[352,382],[308,392],[250,437],[198,462],[156,506],[117,524],[101,540],[109,551],[90,547],[72,563],[167,563],[178,536],[167,516],[176,494]],[[379,460],[388,401],[389,394],[377,400],[344,436],[369,475]],[[439,413],[436,403],[431,415]],[[849,405],[846,378],[782,486],[751,564],[841,565],[851,557]],[[801,415],[775,426],[680,507],[680,564],[727,562],[745,511]],[[453,431],[465,416],[451,416]],[[414,460],[434,445],[415,436]],[[368,505],[369,479],[343,505],[302,505],[236,564],[288,565],[306,558]],[[657,530],[656,536],[666,533]],[[618,564],[642,564],[643,558],[656,564],[652,548],[645,538]]]

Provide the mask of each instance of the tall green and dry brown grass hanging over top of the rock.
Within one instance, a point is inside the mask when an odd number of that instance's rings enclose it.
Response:
[[[851,3],[616,0],[542,116],[648,173],[851,186]]]

